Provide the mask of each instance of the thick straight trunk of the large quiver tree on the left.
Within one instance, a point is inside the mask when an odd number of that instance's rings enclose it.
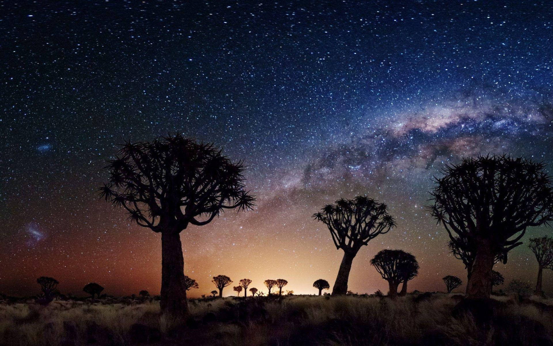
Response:
[[[180,235],[173,230],[161,232],[161,300],[163,313],[184,316],[188,313],[184,287],[184,259]]]

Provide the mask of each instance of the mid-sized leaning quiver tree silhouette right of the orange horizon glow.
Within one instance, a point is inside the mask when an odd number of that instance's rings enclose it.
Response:
[[[388,233],[395,226],[394,218],[388,214],[384,203],[366,196],[339,199],[335,204],[325,205],[313,218],[327,226],[336,249],[344,251],[332,295],[345,295],[349,271],[357,252],[377,235]]]

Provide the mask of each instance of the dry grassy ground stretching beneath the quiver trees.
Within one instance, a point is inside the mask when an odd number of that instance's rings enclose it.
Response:
[[[0,304],[0,345],[553,345],[553,299],[496,297],[487,322],[460,296],[192,300],[186,322],[155,301]],[[455,316],[455,317],[453,317]]]

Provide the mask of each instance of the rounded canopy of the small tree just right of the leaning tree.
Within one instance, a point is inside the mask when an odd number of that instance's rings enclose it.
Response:
[[[400,283],[405,277],[414,277],[418,272],[415,256],[403,250],[380,250],[371,260],[371,265],[384,280]]]

